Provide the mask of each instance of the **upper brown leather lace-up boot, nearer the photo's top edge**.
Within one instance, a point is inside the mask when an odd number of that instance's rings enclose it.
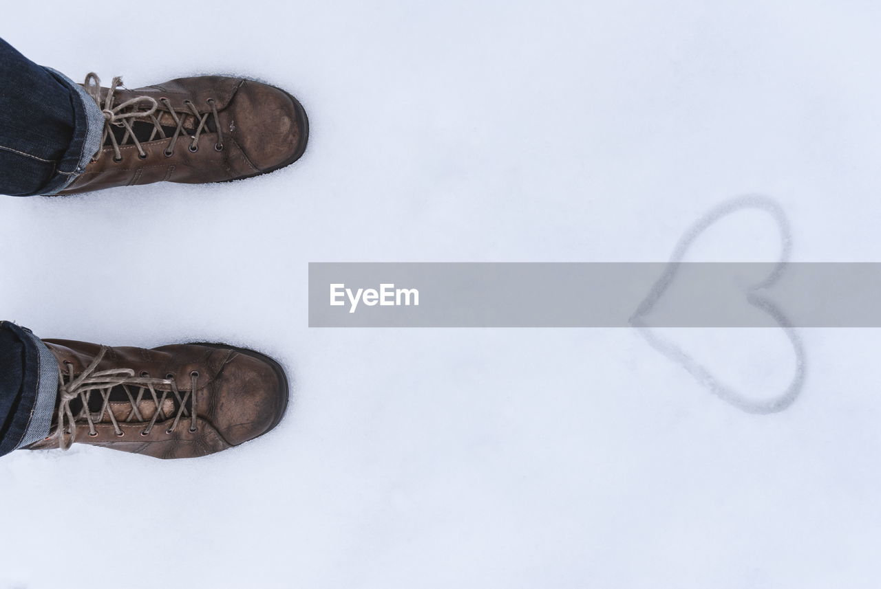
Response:
[[[102,148],[59,194],[153,182],[250,178],[306,150],[306,112],[287,92],[241,77],[181,77],[123,90],[122,79],[85,90],[104,114]]]

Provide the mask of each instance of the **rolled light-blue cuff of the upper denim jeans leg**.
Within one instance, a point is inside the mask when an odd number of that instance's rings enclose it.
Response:
[[[52,76],[70,88],[74,110],[74,133],[70,147],[58,164],[56,175],[40,191],[44,196],[60,193],[85,171],[92,157],[101,148],[104,135],[104,114],[85,89],[56,69],[46,69]]]

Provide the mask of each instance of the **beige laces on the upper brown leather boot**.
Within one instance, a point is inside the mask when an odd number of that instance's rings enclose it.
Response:
[[[104,135],[101,138],[101,145],[105,145],[107,143],[107,139],[110,140],[110,144],[113,146],[114,151],[114,161],[121,162],[122,161],[122,152],[119,149],[120,145],[125,145],[127,141],[131,140],[131,142],[135,145],[135,149],[137,149],[137,156],[141,159],[144,159],[147,156],[146,151],[141,146],[141,142],[138,141],[137,136],[135,135],[135,131],[132,128],[132,123],[135,120],[144,120],[144,122],[151,122],[153,124],[153,129],[150,134],[150,138],[147,142],[152,142],[158,136],[159,139],[167,139],[165,129],[162,128],[162,125],[159,123],[159,119],[156,116],[156,111],[159,109],[159,103],[156,101],[156,98],[152,98],[150,96],[137,96],[135,98],[130,98],[126,100],[120,105],[115,105],[115,91],[116,89],[122,85],[122,77],[116,76],[113,79],[113,83],[110,84],[110,88],[107,90],[107,97],[104,100],[101,100],[101,80],[97,74],[94,72],[90,72],[85,76],[85,91],[93,98],[95,104],[101,109],[101,113],[104,114]],[[191,100],[184,100],[183,104],[187,106],[188,111],[183,111],[178,113],[172,108],[171,102],[168,98],[159,98],[159,102],[164,106],[163,110],[167,110],[167,112],[171,115],[171,118],[174,120],[174,124],[177,126],[174,129],[174,134],[172,135],[171,142],[168,144],[168,147],[163,152],[166,156],[174,156],[174,146],[177,145],[177,140],[181,135],[188,136],[190,139],[189,150],[193,153],[199,150],[199,138],[201,137],[204,130],[207,128],[208,118],[210,116],[214,117],[214,127],[217,129],[218,140],[214,144],[214,149],[218,151],[223,150],[223,132],[220,127],[220,120],[218,118],[218,109],[217,104],[214,98],[208,98],[208,105],[211,106],[211,112],[208,113],[199,113],[196,105],[193,104]],[[141,106],[149,105],[150,107],[147,110],[141,110]],[[196,120],[196,132],[193,135],[188,135],[184,130],[184,122],[186,120],[186,116],[179,115],[189,115],[192,114],[194,120]],[[122,141],[117,142],[116,136],[113,133],[113,130],[110,128],[110,125],[115,125],[116,127],[122,127],[125,129],[125,133],[122,135]],[[93,161],[98,161],[101,156],[101,150],[98,151],[93,158]]]

